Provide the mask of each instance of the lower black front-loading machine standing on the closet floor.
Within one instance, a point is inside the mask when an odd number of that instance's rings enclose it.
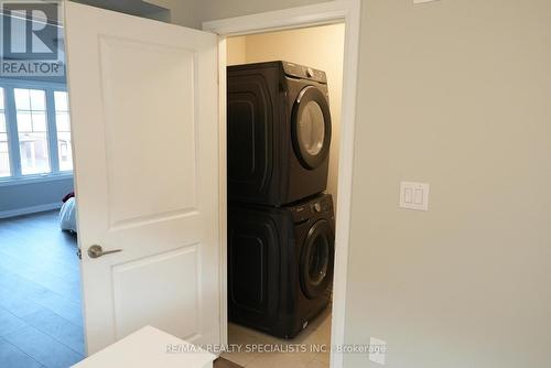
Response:
[[[335,217],[328,194],[228,209],[229,321],[292,338],[329,302]]]

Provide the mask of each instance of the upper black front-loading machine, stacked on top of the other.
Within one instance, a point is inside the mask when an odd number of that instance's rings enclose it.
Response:
[[[325,191],[331,115],[325,73],[287,62],[227,69],[228,199],[268,206]]]

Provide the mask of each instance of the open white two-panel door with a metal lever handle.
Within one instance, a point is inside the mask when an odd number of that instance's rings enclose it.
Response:
[[[65,11],[88,354],[144,325],[219,343],[217,36]]]

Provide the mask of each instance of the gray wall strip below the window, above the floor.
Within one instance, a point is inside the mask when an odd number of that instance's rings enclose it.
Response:
[[[58,204],[73,191],[73,177],[0,186],[0,218]]]

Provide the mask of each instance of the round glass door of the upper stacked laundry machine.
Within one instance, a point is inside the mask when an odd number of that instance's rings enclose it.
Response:
[[[315,86],[304,87],[293,106],[293,149],[301,164],[313,170],[320,166],[329,153],[331,113],[327,99]]]

